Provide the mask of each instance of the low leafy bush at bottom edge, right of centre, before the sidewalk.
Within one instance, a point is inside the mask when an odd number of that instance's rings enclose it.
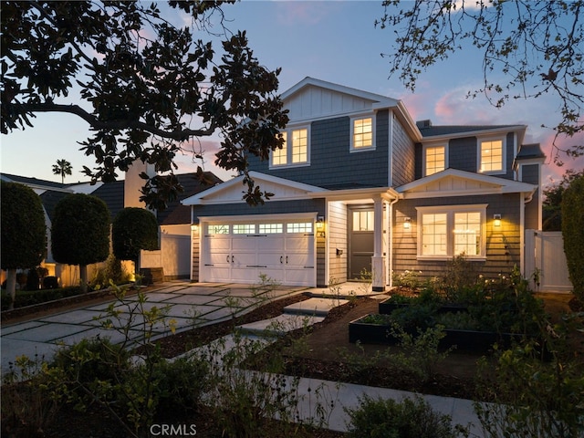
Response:
[[[453,426],[450,415],[434,412],[421,397],[402,401],[368,395],[359,399],[357,409],[345,408],[349,414],[350,438],[454,438],[468,436],[460,425]]]

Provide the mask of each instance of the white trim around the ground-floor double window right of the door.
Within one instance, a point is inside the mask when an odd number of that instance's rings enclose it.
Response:
[[[486,207],[487,203],[473,205],[443,205],[435,207],[416,207],[417,211],[417,260],[452,260],[454,257],[454,214],[479,212],[481,214],[481,252],[479,255],[465,255],[468,260],[486,260]],[[446,255],[422,255],[422,215],[446,214]]]

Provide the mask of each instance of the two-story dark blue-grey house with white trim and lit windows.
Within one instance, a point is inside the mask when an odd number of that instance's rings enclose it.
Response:
[[[440,275],[460,254],[487,276],[523,268],[545,158],[523,144],[527,126],[416,123],[400,100],[316,78],[281,98],[285,146],[249,158],[275,195],[248,206],[240,176],[183,200],[193,281],[326,287],[370,273],[382,291],[392,273]]]

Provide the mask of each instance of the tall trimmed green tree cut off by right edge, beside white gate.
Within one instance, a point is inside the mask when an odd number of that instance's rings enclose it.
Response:
[[[562,236],[574,295],[584,303],[584,174],[574,178],[562,195]]]

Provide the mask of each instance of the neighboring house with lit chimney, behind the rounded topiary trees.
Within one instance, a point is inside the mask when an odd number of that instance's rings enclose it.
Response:
[[[116,214],[126,206],[143,207],[143,203],[139,201],[140,187],[143,184],[139,174],[142,171],[148,172],[148,169],[136,166],[134,172],[130,171],[126,174],[125,180],[95,185],[89,183],[61,184],[5,173],[1,174],[0,178],[6,182],[23,183],[40,196],[47,223],[47,258],[42,266],[47,268],[49,276],[59,278],[61,286],[71,286],[78,284],[78,266],[58,264],[51,252],[50,226],[55,205],[69,193],[92,194],[108,205],[111,220],[113,220]],[[211,172],[207,172],[206,176],[213,182],[210,185],[222,183],[222,180]],[[183,185],[183,193],[178,199],[169,203],[165,211],[156,214],[160,225],[161,249],[142,251],[141,256],[141,267],[162,268],[166,279],[189,278],[191,275],[191,212],[180,201],[210,186],[200,183],[194,173],[185,173],[177,175],[177,177]],[[95,274],[99,266],[101,264],[88,266],[89,278]],[[127,266],[127,268],[133,270],[133,266]]]

